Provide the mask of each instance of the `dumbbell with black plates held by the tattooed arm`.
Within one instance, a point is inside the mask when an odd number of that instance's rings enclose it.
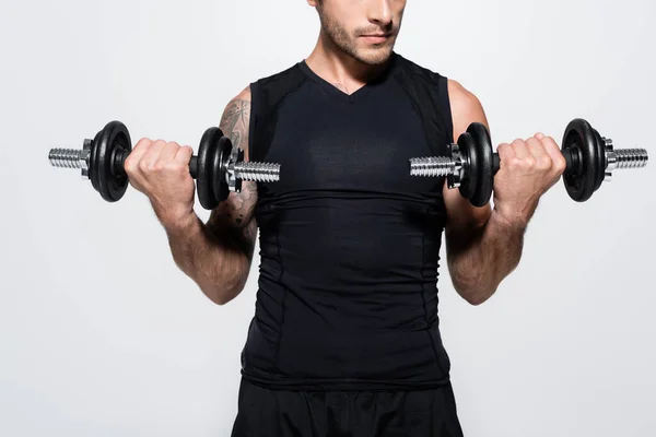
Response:
[[[80,168],[83,179],[91,179],[93,188],[108,202],[122,198],[128,188],[125,163],[132,150],[126,126],[117,120],[108,122],[93,140],[85,139],[82,150],[51,149],[50,164],[61,168]],[[196,180],[200,204],[212,210],[231,191],[239,192],[243,180],[274,182],[280,177],[280,165],[244,162],[244,151],[233,150],[232,142],[220,128],[207,129],[200,140],[198,156],[191,156],[189,173]]]

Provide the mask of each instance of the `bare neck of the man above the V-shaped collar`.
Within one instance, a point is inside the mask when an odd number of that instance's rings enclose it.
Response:
[[[337,47],[321,31],[317,45],[305,62],[324,80],[352,93],[385,71],[390,60],[379,66],[361,62]]]

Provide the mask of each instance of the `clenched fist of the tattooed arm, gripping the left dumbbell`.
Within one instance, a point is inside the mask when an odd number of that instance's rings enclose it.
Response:
[[[176,226],[194,214],[192,153],[189,145],[143,138],[126,160],[130,185],[149,198],[164,227]]]

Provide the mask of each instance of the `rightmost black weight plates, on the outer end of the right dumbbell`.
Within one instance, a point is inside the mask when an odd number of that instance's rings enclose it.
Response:
[[[574,154],[578,150],[582,157],[582,172],[572,168],[563,174],[565,189],[570,198],[577,202],[587,201],[604,180],[606,155],[600,141],[599,134],[582,118],[575,118],[565,128],[561,149],[573,149]]]

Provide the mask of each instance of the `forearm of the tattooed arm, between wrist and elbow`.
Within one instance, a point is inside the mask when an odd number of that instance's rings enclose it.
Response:
[[[196,214],[164,228],[176,265],[208,298],[223,305],[242,291],[249,262],[236,243],[220,241]]]

